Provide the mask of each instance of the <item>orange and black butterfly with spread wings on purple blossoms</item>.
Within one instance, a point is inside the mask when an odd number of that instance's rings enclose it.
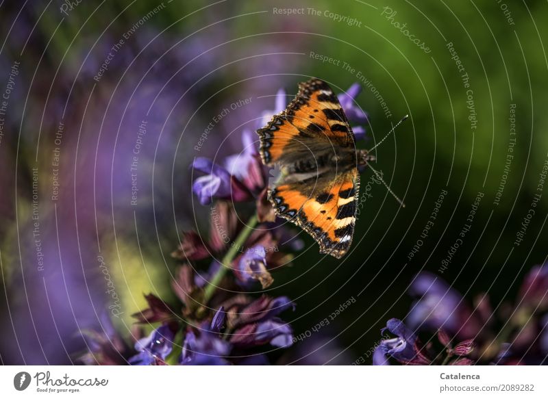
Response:
[[[286,110],[257,133],[262,162],[281,171],[267,194],[277,216],[312,235],[320,253],[343,257],[356,224],[358,168],[375,157],[356,150],[333,90],[321,79],[300,83]]]

